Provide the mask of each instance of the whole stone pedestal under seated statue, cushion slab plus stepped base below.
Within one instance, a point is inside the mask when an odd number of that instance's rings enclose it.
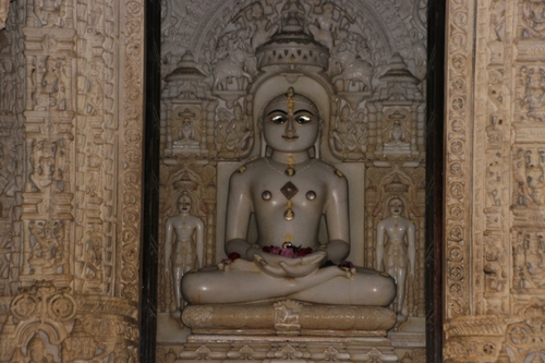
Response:
[[[191,336],[175,362],[398,362],[386,307],[312,305],[284,300],[187,306]]]

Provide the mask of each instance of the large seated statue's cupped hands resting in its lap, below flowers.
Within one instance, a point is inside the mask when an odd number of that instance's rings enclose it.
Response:
[[[318,251],[306,256],[290,258],[274,255],[264,251],[255,251],[255,264],[272,277],[304,277],[316,271],[327,257],[326,252]]]

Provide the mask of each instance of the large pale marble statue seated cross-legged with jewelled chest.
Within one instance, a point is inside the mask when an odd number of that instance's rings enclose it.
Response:
[[[311,156],[319,132],[316,105],[290,88],[265,107],[262,129],[271,153],[239,168],[229,185],[226,252],[240,258],[186,274],[184,299],[191,304],[282,298],[391,303],[396,285],[388,274],[344,262],[350,252],[347,179]],[[252,214],[255,244],[246,238]],[[328,234],[324,244],[318,242],[323,216]]]

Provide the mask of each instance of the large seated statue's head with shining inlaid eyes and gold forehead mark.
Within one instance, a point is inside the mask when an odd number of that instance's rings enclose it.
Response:
[[[287,94],[272,98],[263,114],[263,135],[267,145],[277,152],[304,152],[318,137],[318,108],[308,97]]]

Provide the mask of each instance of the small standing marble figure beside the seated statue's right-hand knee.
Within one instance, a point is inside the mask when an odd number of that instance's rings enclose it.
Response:
[[[393,300],[393,311],[399,315],[407,316],[403,303],[408,273],[411,280],[414,278],[415,228],[412,221],[401,217],[403,201],[393,196],[388,202],[388,207],[390,216],[377,225],[376,264],[378,270],[385,270],[396,280],[398,291]]]

